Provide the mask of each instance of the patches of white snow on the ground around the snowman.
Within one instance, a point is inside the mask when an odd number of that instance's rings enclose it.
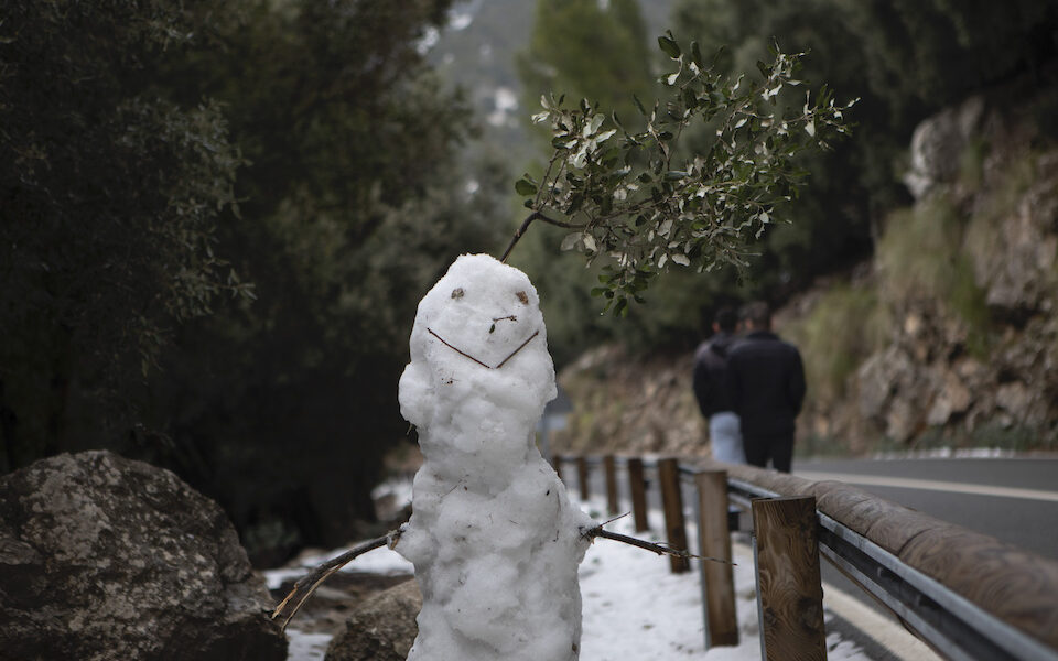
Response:
[[[581,503],[596,519],[604,519],[602,502]],[[650,512],[658,527],[661,512]],[[608,530],[634,534],[630,517],[607,525]],[[660,530],[640,533],[644,539],[660,540]],[[694,530],[688,534],[694,539]],[[344,550],[336,550],[338,554]],[[307,559],[314,566],[327,556]],[[671,574],[669,560],[614,542],[596,540],[580,568],[583,598],[582,661],[650,661],[655,659],[704,659],[706,661],[756,661],[760,659],[757,604],[754,586],[753,553],[749,546],[734,545],[735,594],[739,622],[738,647],[705,651],[701,587],[697,566],[685,574]],[[377,573],[411,573],[411,564],[387,549],[356,559],[346,570]],[[303,574],[301,570],[274,570],[266,573],[272,586],[284,577]],[[828,590],[828,597],[830,593]],[[832,619],[824,600],[825,618]],[[319,661],[324,658],[330,638],[289,629],[289,661]],[[907,638],[910,638],[909,636]],[[908,641],[911,644],[910,641]],[[857,644],[836,633],[827,638],[830,661],[872,661]],[[897,654],[896,658],[899,658]],[[905,658],[916,658],[915,655]]]

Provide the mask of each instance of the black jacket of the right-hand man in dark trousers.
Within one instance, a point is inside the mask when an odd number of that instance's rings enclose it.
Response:
[[[744,436],[792,435],[805,402],[801,354],[771,332],[749,333],[727,353],[727,395]]]

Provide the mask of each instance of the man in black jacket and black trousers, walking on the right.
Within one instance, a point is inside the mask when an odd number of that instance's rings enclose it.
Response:
[[[727,395],[742,424],[746,460],[790,472],[795,421],[805,401],[801,354],[771,332],[768,304],[743,311],[746,335],[727,354]]]

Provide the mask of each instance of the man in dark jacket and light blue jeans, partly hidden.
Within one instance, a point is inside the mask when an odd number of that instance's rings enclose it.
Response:
[[[713,319],[713,336],[694,351],[694,399],[709,420],[709,440],[713,458],[728,464],[745,464],[738,415],[727,397],[727,350],[735,342],[738,317],[731,307],[722,307]]]

